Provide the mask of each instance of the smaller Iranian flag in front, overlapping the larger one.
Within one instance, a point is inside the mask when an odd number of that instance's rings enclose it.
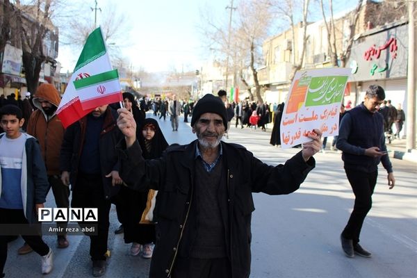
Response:
[[[74,87],[83,110],[123,101],[117,70],[76,80]]]

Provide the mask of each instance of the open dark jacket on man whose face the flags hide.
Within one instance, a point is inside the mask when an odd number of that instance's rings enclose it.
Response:
[[[74,122],[65,130],[63,145],[60,151],[60,170],[70,172],[70,183],[72,190],[76,186],[76,178],[79,173],[80,156],[83,152],[83,143],[85,139],[85,128],[87,126],[87,117],[81,118]],[[103,129],[100,133],[99,154],[101,177],[104,184],[104,197],[109,199],[118,193],[120,186],[111,185],[111,177],[104,177],[111,171],[119,170],[117,152],[115,146],[122,140],[123,136],[116,125],[117,112],[108,106],[104,117]]]

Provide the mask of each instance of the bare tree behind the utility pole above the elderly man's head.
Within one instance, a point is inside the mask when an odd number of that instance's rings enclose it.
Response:
[[[234,69],[234,75],[238,75],[240,81],[245,85],[250,99],[253,100],[255,96],[258,101],[263,102],[256,68],[262,64],[261,45],[268,36],[270,26],[272,26],[270,6],[265,4],[265,1],[255,0],[242,0],[238,3],[236,15],[234,15],[234,21],[230,28],[230,42],[233,42],[230,47],[228,45],[229,28],[224,20],[226,17],[223,21],[215,22],[207,16],[207,13],[202,13],[202,18],[204,19],[204,27],[202,28],[204,38],[208,38],[205,40],[206,47],[215,51],[220,61],[224,62],[229,56],[232,65],[228,65],[228,67]],[[254,94],[250,81],[245,79],[243,74],[247,69],[252,72]]]

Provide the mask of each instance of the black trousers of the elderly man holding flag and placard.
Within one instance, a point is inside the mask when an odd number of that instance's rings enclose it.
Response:
[[[230,278],[229,259],[177,258],[171,278]]]

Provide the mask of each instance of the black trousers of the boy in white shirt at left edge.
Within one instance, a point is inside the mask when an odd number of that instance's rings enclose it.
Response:
[[[23,209],[0,208],[0,224],[28,224],[28,220],[24,217]],[[33,229],[37,229],[37,227],[33,227]],[[6,264],[8,238],[9,236],[0,236],[0,275],[3,273]],[[48,254],[49,247],[42,240],[42,236],[25,236],[22,234],[22,238],[40,256]]]

